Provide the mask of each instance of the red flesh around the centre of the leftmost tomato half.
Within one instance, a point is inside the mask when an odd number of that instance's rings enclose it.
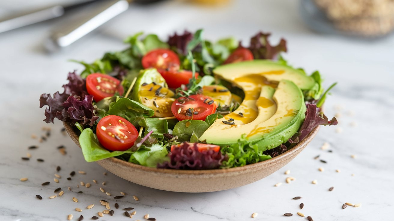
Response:
[[[112,76],[109,76],[107,74],[94,73],[94,74],[89,74],[86,77],[86,90],[87,90],[87,93],[89,93],[89,95],[93,95],[93,100],[95,100],[96,102],[99,102],[103,98],[112,97],[113,95],[115,95],[115,92],[114,93],[107,93],[107,92],[97,89],[97,85],[100,85],[100,83],[97,81],[98,77],[107,78],[110,81],[112,81],[115,85],[117,85],[117,87],[115,87],[115,88],[111,87],[110,89],[118,92],[120,95],[123,95],[124,89],[123,89],[123,86],[121,85],[120,80],[118,80]]]

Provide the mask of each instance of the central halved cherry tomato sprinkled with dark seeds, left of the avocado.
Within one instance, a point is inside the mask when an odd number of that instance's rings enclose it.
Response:
[[[172,106],[171,111],[179,120],[202,120],[215,113],[217,108],[216,102],[204,95],[190,95],[189,97],[177,98]]]

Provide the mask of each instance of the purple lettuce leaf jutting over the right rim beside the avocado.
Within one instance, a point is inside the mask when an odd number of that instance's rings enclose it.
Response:
[[[328,120],[326,115],[320,113],[320,108],[318,108],[316,104],[307,104],[304,123],[301,125],[299,132],[289,139],[289,143],[298,143],[303,140],[316,126],[330,126],[336,124],[338,124],[338,121],[335,117]]]

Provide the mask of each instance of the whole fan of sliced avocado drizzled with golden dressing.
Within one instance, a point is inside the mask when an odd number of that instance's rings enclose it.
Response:
[[[243,64],[245,68],[242,69]],[[228,69],[227,66],[230,65],[238,67],[237,70]],[[245,92],[245,98],[237,110],[217,119],[199,140],[227,146],[237,143],[238,139],[245,136],[264,151],[285,143],[296,134],[305,119],[306,110],[300,87],[308,88],[313,85],[314,80],[309,83],[309,77],[302,72],[272,61],[256,60],[230,65],[219,66],[214,69],[214,73],[238,85]],[[252,69],[253,72],[250,71]],[[285,71],[283,74],[272,74],[276,76],[276,83],[273,80],[268,81],[269,78],[265,75],[256,75],[258,72],[275,71]],[[227,124],[223,121],[227,121]]]

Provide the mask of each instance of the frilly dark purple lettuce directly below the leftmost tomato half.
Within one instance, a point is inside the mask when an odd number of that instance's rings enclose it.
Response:
[[[85,95],[84,100],[80,100],[80,97],[68,97],[63,103],[64,110],[69,114],[67,122],[93,126],[99,117],[95,114],[96,109],[92,102],[93,95]]]

